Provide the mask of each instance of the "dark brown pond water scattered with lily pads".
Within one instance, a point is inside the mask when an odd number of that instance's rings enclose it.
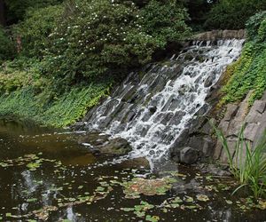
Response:
[[[249,199],[231,197],[230,179],[185,167],[171,172],[167,194],[125,198],[122,184],[155,176],[106,163],[113,157],[92,155],[79,136],[0,120],[0,221],[266,221]]]

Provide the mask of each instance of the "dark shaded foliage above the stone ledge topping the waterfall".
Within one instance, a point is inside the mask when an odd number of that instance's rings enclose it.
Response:
[[[266,10],[266,0],[221,0],[207,15],[207,29],[245,28],[246,20]]]

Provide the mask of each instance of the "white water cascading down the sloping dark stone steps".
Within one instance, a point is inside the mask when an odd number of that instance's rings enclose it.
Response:
[[[210,88],[239,57],[244,40],[194,42],[177,57],[132,73],[111,97],[86,116],[86,128],[127,139],[134,157],[167,155]]]

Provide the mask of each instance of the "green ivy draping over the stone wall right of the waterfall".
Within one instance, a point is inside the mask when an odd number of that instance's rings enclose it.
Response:
[[[250,104],[266,90],[266,12],[254,15],[247,23],[248,42],[239,60],[228,68],[230,81],[223,88],[223,102],[243,99],[253,91]]]

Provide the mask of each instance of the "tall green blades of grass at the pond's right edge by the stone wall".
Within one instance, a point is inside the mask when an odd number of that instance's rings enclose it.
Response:
[[[212,123],[211,123],[212,124]],[[212,124],[217,138],[223,145],[223,150],[228,157],[231,173],[239,180],[239,187],[233,192],[235,194],[240,188],[247,186],[253,192],[254,197],[262,197],[266,194],[266,130],[262,138],[251,146],[244,138],[245,127],[239,131],[235,145],[235,152],[231,154],[228,141],[220,131]]]

